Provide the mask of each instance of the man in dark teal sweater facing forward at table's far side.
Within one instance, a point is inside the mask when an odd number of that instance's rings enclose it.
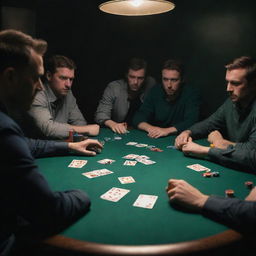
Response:
[[[150,90],[133,123],[151,138],[180,133],[198,121],[199,103],[198,91],[184,85],[181,63],[167,60],[162,68],[162,85]]]

